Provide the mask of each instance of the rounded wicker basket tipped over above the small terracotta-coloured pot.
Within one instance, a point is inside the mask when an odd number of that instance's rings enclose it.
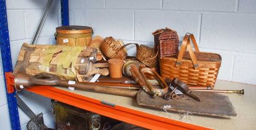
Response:
[[[120,54],[117,52],[124,45],[122,40],[115,40],[113,37],[106,37],[101,43],[101,51],[110,59],[126,59],[126,48],[121,50]]]

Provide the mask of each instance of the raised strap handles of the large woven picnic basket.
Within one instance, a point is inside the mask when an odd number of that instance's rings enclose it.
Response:
[[[176,67],[180,67],[183,55],[184,55],[185,51],[188,49],[188,53],[190,54],[192,63],[194,65],[194,69],[198,68],[198,61],[196,59],[196,55],[194,54],[193,48],[191,46],[190,38],[191,38],[191,41],[193,42],[195,52],[197,52],[197,53],[199,52],[199,48],[198,48],[198,45],[197,45],[196,40],[194,38],[194,35],[191,34],[191,33],[186,33],[185,37],[183,38],[181,48],[180,48],[180,52],[178,54],[178,59],[177,59],[176,64],[175,64]]]

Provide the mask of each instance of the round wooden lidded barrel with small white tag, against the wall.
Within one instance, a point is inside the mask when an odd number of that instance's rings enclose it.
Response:
[[[62,26],[56,28],[57,45],[88,46],[92,28],[86,26]]]

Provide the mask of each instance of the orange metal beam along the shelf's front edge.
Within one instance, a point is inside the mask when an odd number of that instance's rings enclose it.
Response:
[[[52,98],[60,102],[82,108],[84,110],[108,116],[130,124],[135,124],[147,129],[208,129],[194,124],[183,123],[173,119],[150,115],[142,111],[132,110],[123,106],[104,105],[99,100],[71,93],[50,86],[30,87],[30,92],[44,97]]]

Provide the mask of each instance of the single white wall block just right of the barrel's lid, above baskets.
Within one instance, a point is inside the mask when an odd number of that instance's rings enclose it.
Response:
[[[134,38],[134,12],[90,9],[85,12],[85,24],[93,28],[94,34],[130,40]]]

